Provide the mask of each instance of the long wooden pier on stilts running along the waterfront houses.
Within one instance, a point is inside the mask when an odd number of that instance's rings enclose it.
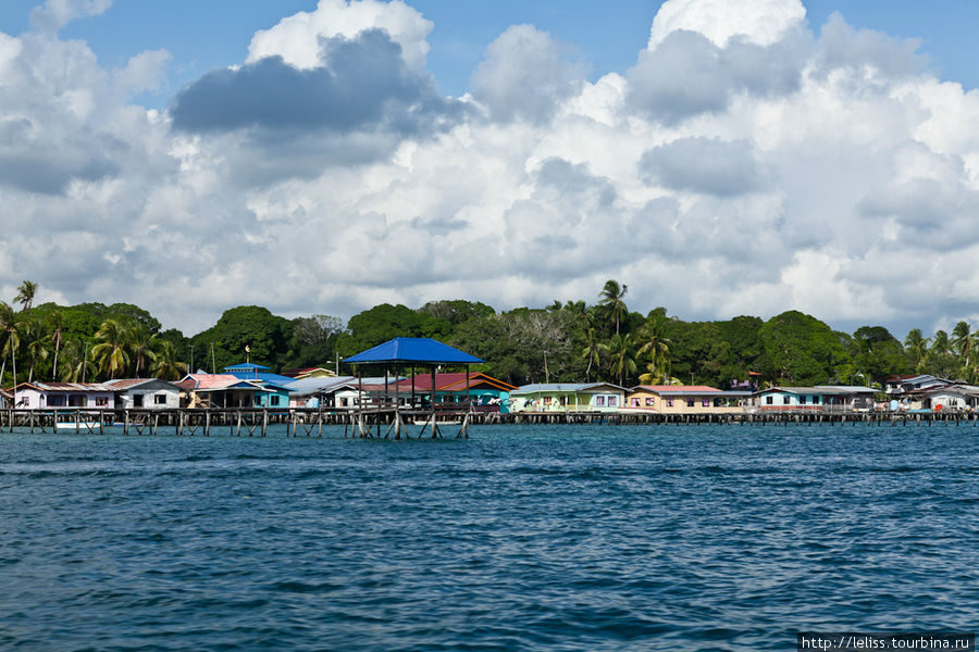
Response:
[[[30,432],[77,435],[174,435],[177,437],[265,437],[271,426],[285,426],[286,437],[322,437],[323,426],[344,426],[345,437],[400,439],[468,438],[470,426],[493,425],[855,425],[934,426],[979,425],[979,413],[814,412],[662,414],[657,412],[498,412],[468,411],[460,405],[395,409],[394,405],[320,409],[210,410],[2,410],[0,432],[14,428]]]

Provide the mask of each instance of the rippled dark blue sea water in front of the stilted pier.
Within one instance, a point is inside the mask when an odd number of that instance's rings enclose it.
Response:
[[[4,432],[0,649],[794,650],[979,623],[979,428],[472,435]]]

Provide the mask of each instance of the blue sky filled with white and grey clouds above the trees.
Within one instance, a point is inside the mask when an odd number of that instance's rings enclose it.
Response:
[[[979,5],[4,0],[0,297],[979,324]]]

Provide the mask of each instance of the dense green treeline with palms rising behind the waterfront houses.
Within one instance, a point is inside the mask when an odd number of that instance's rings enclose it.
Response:
[[[13,304],[0,301],[0,378],[103,380],[132,376],[177,379],[187,369],[221,372],[250,360],[276,372],[323,366],[394,337],[432,337],[486,360],[482,371],[515,385],[609,380],[630,386],[694,384],[879,384],[892,374],[931,373],[975,381],[979,338],[966,322],[952,334],[904,340],[882,326],[833,330],[797,311],[770,319],[739,316],[684,322],[656,308],[629,310],[628,288],[609,280],[596,301],[555,301],[497,312],[484,303],[433,301],[419,309],[382,304],[344,323],[330,315],[288,319],[256,305],[226,311],[193,337],[161,330],[132,304],[34,306],[37,285],[24,281]],[[16,309],[20,304],[20,310]]]

